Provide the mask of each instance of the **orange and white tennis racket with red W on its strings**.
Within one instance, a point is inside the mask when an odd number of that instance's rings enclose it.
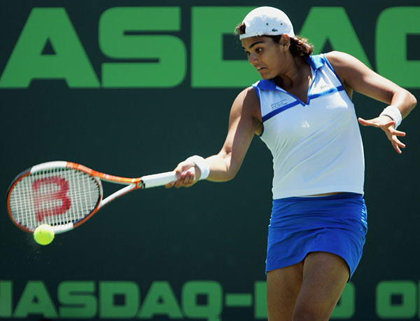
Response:
[[[194,168],[189,170],[195,175]],[[101,181],[126,185],[103,198]],[[71,231],[112,200],[135,189],[148,189],[176,181],[175,172],[139,178],[104,174],[66,161],[42,163],[22,172],[7,193],[10,219],[33,233],[49,224],[55,233]]]

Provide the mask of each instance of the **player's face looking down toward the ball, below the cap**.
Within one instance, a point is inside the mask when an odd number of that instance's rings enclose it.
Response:
[[[266,36],[253,36],[241,40],[248,62],[257,69],[261,78],[271,79],[284,69],[284,50],[279,43]]]

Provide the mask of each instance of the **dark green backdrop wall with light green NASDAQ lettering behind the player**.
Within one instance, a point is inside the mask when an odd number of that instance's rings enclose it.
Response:
[[[258,80],[232,29],[262,5],[286,11],[317,53],[356,55],[419,99],[419,1],[1,1],[1,193],[45,161],[136,177],[217,153],[230,104]],[[353,101],[363,118],[384,108]],[[333,319],[420,317],[417,121],[400,127],[402,155],[360,128],[369,232]],[[3,198],[1,319],[266,319],[271,179],[255,137],[231,182],[131,193],[45,247]]]

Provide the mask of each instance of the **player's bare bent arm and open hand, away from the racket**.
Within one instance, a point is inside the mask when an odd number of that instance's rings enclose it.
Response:
[[[355,57],[338,51],[327,53],[326,57],[350,96],[354,90],[374,100],[392,105],[398,108],[402,118],[405,118],[416,106],[417,101],[414,95],[377,74]],[[362,125],[374,126],[384,130],[393,148],[398,153],[401,153],[400,148],[405,148],[405,144],[402,144],[398,139],[398,137],[405,136],[405,132],[396,130],[395,121],[390,117],[378,116],[369,120],[358,118],[358,121]]]

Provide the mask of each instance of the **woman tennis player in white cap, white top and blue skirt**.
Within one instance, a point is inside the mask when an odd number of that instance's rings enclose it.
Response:
[[[269,321],[328,320],[362,254],[367,231],[364,156],[358,122],[380,128],[397,153],[397,130],[416,105],[407,90],[351,55],[311,55],[287,15],[260,7],[237,27],[261,80],[236,97],[221,151],[176,167],[172,186],[237,174],[253,135],[273,156],[273,206],[267,241]],[[388,105],[376,118],[356,118],[351,95]],[[181,174],[195,166],[197,177]]]

